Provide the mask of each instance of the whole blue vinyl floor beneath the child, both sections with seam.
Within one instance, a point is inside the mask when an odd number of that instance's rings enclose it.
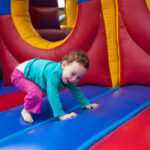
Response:
[[[5,120],[0,125],[0,148],[31,150],[83,150],[119,125],[134,117],[150,103],[150,86],[126,86],[107,89],[100,86],[81,87],[92,102],[100,104],[97,110],[81,110],[68,91],[61,92],[66,112],[75,111],[78,117],[59,121],[52,117],[47,98],[43,112],[34,115],[35,123],[23,122],[23,106],[0,113]]]

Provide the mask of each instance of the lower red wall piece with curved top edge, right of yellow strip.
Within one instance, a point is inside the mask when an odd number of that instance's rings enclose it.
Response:
[[[120,86],[150,85],[150,55],[131,39],[120,17]]]

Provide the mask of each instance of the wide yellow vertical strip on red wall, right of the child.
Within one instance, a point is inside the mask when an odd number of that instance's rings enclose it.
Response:
[[[101,0],[106,40],[108,48],[109,69],[112,80],[112,87],[118,85],[118,46],[116,32],[116,8],[114,0]]]

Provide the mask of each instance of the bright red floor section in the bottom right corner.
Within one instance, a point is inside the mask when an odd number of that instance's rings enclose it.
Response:
[[[150,150],[150,106],[89,150]]]

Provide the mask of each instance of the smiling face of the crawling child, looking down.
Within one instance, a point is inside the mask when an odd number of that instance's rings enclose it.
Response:
[[[64,84],[78,82],[87,72],[87,69],[76,61],[67,64],[62,62],[62,81]]]

